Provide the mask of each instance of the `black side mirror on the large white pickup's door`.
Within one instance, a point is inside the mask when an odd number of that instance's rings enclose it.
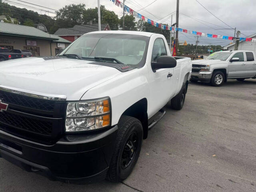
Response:
[[[171,56],[160,56],[157,58],[156,62],[151,62],[153,72],[156,72],[158,69],[174,68],[176,65],[176,59]]]

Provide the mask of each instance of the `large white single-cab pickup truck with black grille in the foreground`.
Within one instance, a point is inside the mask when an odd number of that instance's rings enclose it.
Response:
[[[182,108],[191,70],[164,36],[130,31],[1,62],[0,156],[52,180],[122,181],[162,108]]]

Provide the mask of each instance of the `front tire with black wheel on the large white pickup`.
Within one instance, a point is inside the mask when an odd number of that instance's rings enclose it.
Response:
[[[141,122],[130,116],[121,116],[118,122],[116,145],[108,170],[108,180],[121,182],[130,175],[139,158],[142,139]]]

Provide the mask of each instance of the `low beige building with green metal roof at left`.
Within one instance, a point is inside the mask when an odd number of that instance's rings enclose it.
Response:
[[[0,47],[30,50],[34,56],[54,56],[70,43],[31,26],[0,22]]]

